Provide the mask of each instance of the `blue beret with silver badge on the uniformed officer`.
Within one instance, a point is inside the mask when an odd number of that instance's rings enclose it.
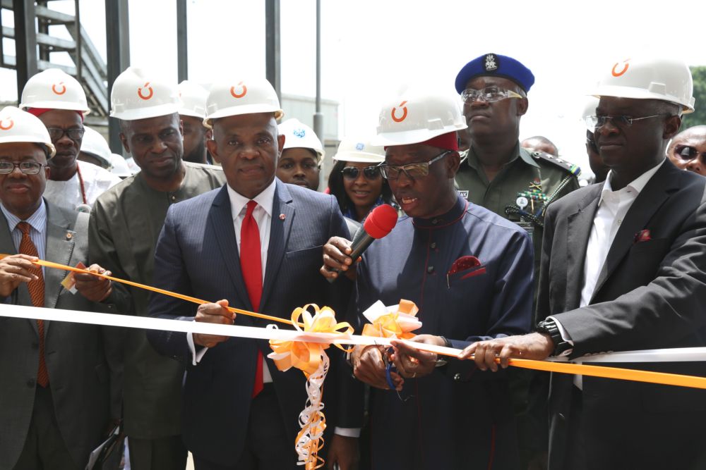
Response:
[[[456,75],[456,91],[461,94],[466,89],[468,80],[481,75],[513,80],[525,93],[534,85],[532,70],[523,66],[520,61],[500,54],[484,54],[467,63]]]

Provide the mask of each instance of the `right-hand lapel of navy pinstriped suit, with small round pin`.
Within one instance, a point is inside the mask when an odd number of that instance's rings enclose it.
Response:
[[[284,214],[284,219],[280,217]],[[292,229],[294,220],[294,206],[292,197],[284,183],[277,180],[275,186],[275,197],[272,205],[272,221],[270,222],[270,246],[267,252],[267,264],[265,265],[265,280],[263,283],[263,295],[260,304],[264,306],[273,291],[277,273],[280,271],[282,259],[285,256],[289,231]]]

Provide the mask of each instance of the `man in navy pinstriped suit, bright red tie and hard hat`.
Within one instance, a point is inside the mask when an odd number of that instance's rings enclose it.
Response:
[[[208,149],[222,163],[227,185],[169,208],[154,279],[164,289],[220,300],[196,309],[155,295],[150,314],[265,326],[225,307],[286,319],[312,302],[340,309],[350,286],[329,285],[318,266],[326,240],[348,231],[335,198],[275,178],[285,143],[277,132],[282,111],[275,90],[265,80],[223,82],[212,87],[207,109],[214,136]],[[172,332],[151,333],[150,341],[162,354],[189,359],[182,431],[196,469],[298,468],[294,441],[306,381],[299,370],[277,371],[266,358],[267,341]],[[360,416],[337,416],[336,363],[342,358],[333,350],[328,429],[359,427]],[[349,468],[357,441],[336,435],[328,442],[329,464]]]

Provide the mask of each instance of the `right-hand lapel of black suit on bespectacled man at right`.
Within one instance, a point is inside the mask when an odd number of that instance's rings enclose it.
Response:
[[[640,194],[630,206],[628,214],[626,214],[618,228],[618,233],[613,240],[613,244],[606,256],[606,262],[603,264],[600,276],[596,283],[596,289],[593,292],[593,297],[601,290],[606,280],[618,267],[618,264],[628,254],[630,247],[635,243],[635,234],[645,228],[654,213],[664,204],[664,201],[669,197],[669,194],[678,187],[676,176],[681,170],[678,170],[669,160],[662,164],[662,167],[654,173],[647,185],[642,188]]]

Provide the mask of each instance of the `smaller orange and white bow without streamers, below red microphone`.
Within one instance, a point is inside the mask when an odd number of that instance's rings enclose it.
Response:
[[[370,321],[363,327],[363,335],[400,340],[412,339],[416,336],[412,331],[421,328],[417,312],[419,308],[410,300],[402,299],[399,305],[392,307],[385,307],[383,302],[378,300],[363,312],[363,316]]]

